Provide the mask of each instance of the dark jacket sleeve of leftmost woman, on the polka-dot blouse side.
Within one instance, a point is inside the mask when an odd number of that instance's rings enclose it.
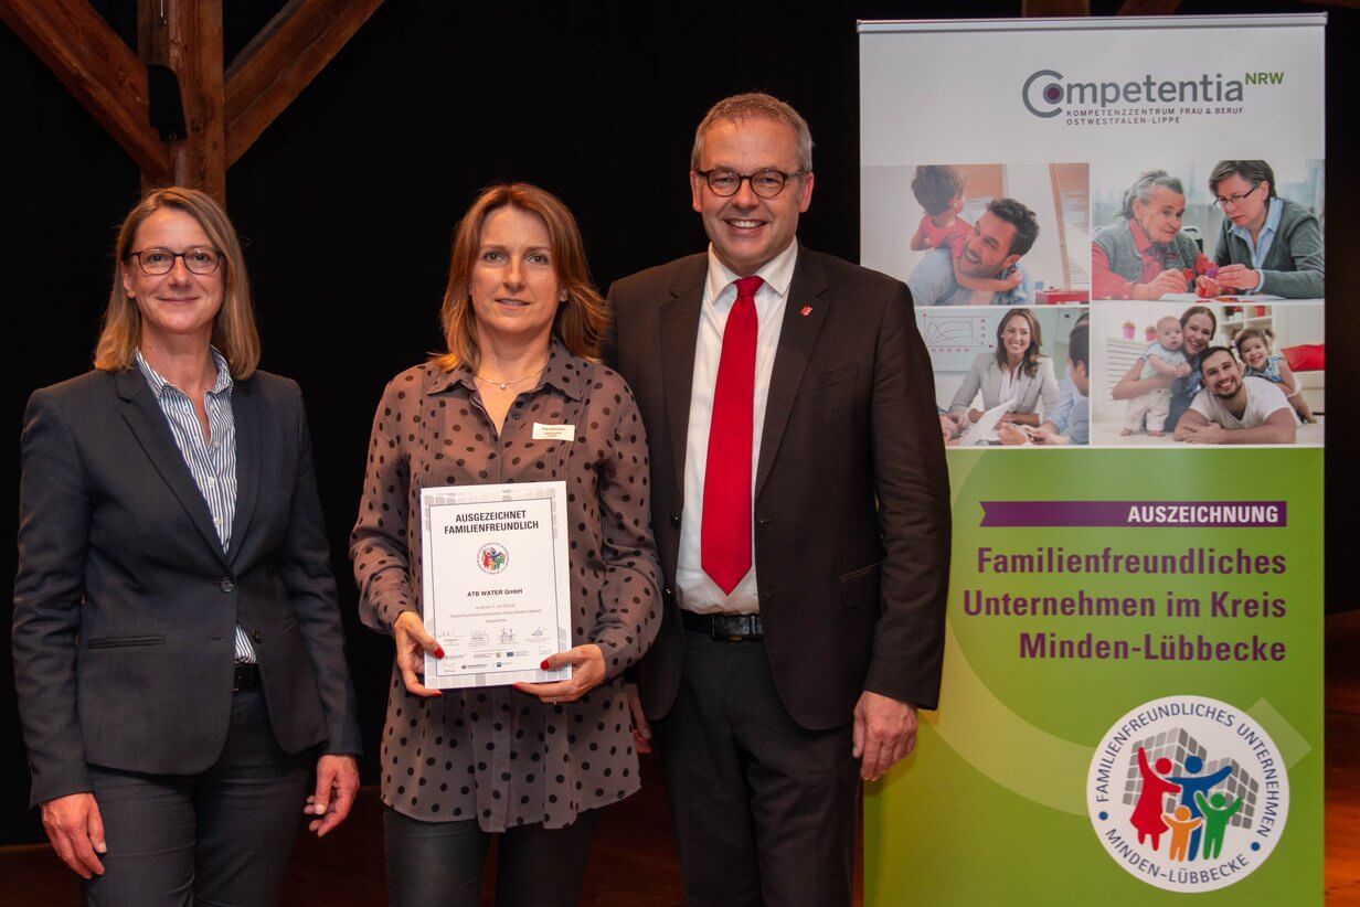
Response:
[[[288,537],[279,562],[279,579],[288,590],[298,628],[306,640],[311,670],[321,692],[326,721],[326,753],[363,752],[355,717],[354,684],[344,657],[344,627],[330,571],[330,545],[317,494],[311,458],[311,434],[302,405],[302,390],[290,382],[298,411],[298,479],[288,517]]]

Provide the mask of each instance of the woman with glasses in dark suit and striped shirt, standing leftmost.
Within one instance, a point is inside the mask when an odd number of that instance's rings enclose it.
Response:
[[[326,834],[358,787],[302,398],[256,370],[245,260],[212,199],[151,192],[114,260],[94,371],[24,415],[31,798],[92,904],[268,904],[298,816]]]

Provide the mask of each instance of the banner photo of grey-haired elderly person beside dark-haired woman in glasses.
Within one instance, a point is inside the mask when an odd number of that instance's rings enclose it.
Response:
[[[1322,160],[1276,163],[1093,165],[1092,299],[1321,302]]]

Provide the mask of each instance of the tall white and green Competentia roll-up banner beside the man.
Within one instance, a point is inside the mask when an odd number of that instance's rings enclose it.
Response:
[[[868,904],[1321,903],[1325,23],[861,23],[955,519]]]

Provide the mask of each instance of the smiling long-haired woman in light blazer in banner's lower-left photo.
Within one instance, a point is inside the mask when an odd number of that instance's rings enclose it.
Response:
[[[1058,379],[1053,374],[1053,360],[1039,352],[1043,333],[1039,321],[1028,309],[1012,309],[997,325],[996,352],[982,352],[959,385],[949,412],[967,413],[976,422],[983,412],[1004,400],[1013,400],[1015,408],[1002,416],[1004,423],[1038,426],[1043,415],[1053,412],[1058,403]],[[982,392],[982,409],[972,409],[972,398]]]

